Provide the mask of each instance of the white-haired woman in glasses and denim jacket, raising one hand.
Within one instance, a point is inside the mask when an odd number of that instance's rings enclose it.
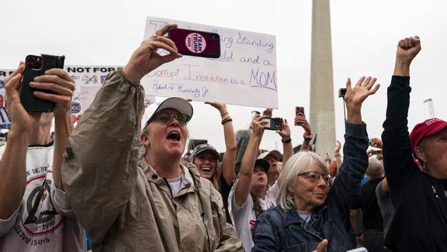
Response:
[[[323,159],[301,151],[287,160],[278,205],[258,218],[252,251],[347,251],[354,249],[345,219],[360,196],[360,180],[368,167],[368,136],[360,113],[374,94],[375,78],[362,77],[355,87],[347,81],[344,160],[331,188]]]

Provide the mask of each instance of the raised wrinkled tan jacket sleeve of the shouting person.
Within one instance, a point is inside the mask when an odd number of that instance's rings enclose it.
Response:
[[[135,187],[143,99],[141,85],[112,72],[68,139],[63,185],[92,246],[102,242]]]

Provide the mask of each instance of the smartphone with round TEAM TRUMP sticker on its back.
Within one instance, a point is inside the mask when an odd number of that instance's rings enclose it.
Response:
[[[168,37],[183,55],[214,59],[220,57],[220,36],[217,33],[171,28]]]

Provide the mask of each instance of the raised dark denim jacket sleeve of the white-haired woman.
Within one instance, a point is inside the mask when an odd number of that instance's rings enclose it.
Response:
[[[360,181],[368,168],[367,149],[367,125],[346,122],[343,163],[329,193],[342,217],[347,216],[360,197]]]

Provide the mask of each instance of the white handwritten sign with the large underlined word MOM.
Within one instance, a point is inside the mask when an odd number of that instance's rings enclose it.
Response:
[[[219,34],[221,56],[219,59],[183,56],[166,63],[144,76],[141,83],[146,93],[192,98],[195,101],[278,107],[274,35],[147,17],[144,38],[166,23]]]

